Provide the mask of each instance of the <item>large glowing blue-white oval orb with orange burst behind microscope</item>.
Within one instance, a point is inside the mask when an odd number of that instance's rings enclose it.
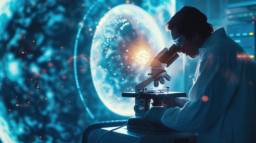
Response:
[[[143,9],[122,4],[105,13],[94,33],[90,66],[92,79],[104,105],[112,112],[134,116],[135,85],[149,78],[150,63],[164,48],[161,31]]]

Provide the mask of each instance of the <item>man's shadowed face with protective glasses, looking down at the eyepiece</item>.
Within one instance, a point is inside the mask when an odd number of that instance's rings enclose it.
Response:
[[[199,55],[199,47],[196,46],[196,40],[188,39],[184,35],[180,35],[175,28],[171,30],[171,37],[173,43],[180,47],[179,53],[182,52],[186,54],[190,59],[195,59]]]

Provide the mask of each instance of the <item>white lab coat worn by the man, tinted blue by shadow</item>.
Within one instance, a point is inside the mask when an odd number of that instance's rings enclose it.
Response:
[[[256,66],[224,28],[199,48],[189,99],[162,123],[197,133],[197,143],[256,143]]]

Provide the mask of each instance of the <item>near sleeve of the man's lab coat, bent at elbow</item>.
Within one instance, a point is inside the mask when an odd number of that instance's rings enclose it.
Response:
[[[200,74],[191,94],[196,99],[187,102],[183,108],[170,108],[162,116],[162,123],[181,132],[207,130],[227,109],[239,79],[228,62],[218,57],[207,57],[200,64]],[[193,89],[194,88],[194,89]]]

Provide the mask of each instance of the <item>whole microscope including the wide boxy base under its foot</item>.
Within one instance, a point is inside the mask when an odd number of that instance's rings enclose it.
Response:
[[[164,48],[150,64],[151,73],[148,75],[151,76],[137,84],[135,92],[122,92],[122,97],[135,98],[135,116],[128,119],[126,126],[101,128],[102,134],[108,133],[104,136],[104,143],[196,143],[195,133],[179,132],[144,118],[146,111],[150,110],[150,104],[162,108],[161,101],[164,99],[186,97],[185,92],[171,92],[169,87],[159,90],[146,88],[152,82],[158,87],[159,83],[165,83],[165,79],[171,80],[164,68],[179,57],[177,51],[178,47],[175,45],[169,49]],[[151,99],[153,103],[150,103]]]

